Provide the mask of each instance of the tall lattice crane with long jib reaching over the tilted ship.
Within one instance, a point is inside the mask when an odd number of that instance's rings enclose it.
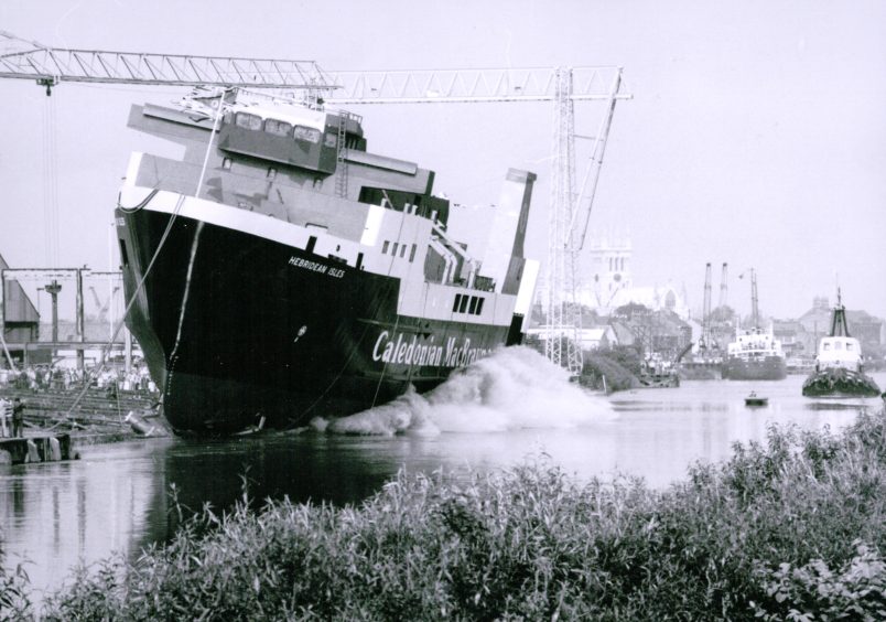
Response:
[[[573,375],[582,368],[576,258],[615,104],[631,98],[623,90],[622,72],[613,66],[327,72],[313,61],[56,49],[0,31],[0,77],[33,79],[46,95],[63,82],[85,82],[289,89],[333,105],[552,101],[545,355]],[[604,101],[606,112],[576,184],[574,106],[581,101]]]

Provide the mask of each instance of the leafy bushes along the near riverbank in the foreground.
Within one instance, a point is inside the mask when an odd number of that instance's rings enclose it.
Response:
[[[880,620],[886,416],[770,430],[664,493],[544,462],[359,508],[238,505],[82,571],[53,620]]]

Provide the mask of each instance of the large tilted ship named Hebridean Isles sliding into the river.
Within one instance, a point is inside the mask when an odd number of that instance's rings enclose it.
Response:
[[[433,171],[367,151],[350,112],[236,90],[129,126],[184,148],[133,153],[116,210],[127,325],[176,432],[348,415],[519,343],[533,173],[508,170],[475,258]]]

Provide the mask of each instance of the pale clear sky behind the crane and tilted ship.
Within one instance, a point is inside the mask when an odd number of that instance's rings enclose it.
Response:
[[[833,301],[839,282],[850,309],[886,318],[886,2],[4,0],[0,30],[54,47],[331,71],[622,66],[633,99],[615,110],[591,229],[630,236],[635,285],[684,287],[699,310],[705,262],[714,303],[728,262],[728,303],[743,314],[738,275],[754,268],[763,313],[797,318],[815,296]],[[115,266],[129,153],[174,153],[126,127],[129,107],[186,90],[65,83],[46,97],[0,79],[7,261],[50,266],[48,222],[58,265]],[[552,105],[350,108],[371,151],[436,171],[436,192],[477,214],[508,168],[538,173],[527,254],[544,260]],[[602,111],[576,105],[576,132],[594,135]],[[451,226],[473,238],[482,223]]]

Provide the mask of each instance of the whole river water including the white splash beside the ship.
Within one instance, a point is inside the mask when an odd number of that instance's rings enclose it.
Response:
[[[509,348],[510,350],[510,348]],[[229,507],[242,496],[358,503],[400,469],[507,468],[544,458],[580,480],[620,472],[663,489],[736,441],[765,441],[771,423],[833,430],[879,398],[813,400],[802,376],[779,382],[685,380],[679,388],[592,395],[519,348],[472,366],[426,397],[299,433],[194,441],[145,439],[84,447],[63,463],[0,465],[7,567],[25,560],[32,585],[57,588],[78,561],[134,556],[168,538],[177,503]],[[886,387],[886,373],[873,375]],[[749,408],[756,390],[768,406]]]

